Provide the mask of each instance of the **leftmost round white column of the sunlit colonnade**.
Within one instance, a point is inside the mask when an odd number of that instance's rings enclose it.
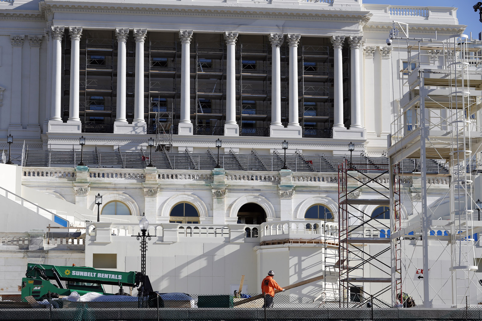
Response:
[[[65,27],[52,27],[52,112],[50,120],[62,120],[61,105],[62,98],[62,37]]]

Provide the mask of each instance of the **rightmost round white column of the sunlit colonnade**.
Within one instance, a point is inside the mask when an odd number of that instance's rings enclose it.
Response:
[[[350,85],[351,85],[351,125],[350,129],[362,128],[362,103],[361,103],[361,85],[360,85],[360,47],[362,46],[362,37],[349,37],[350,44]]]

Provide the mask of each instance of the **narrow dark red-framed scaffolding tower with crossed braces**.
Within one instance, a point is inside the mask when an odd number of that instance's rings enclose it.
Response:
[[[385,215],[390,206],[388,192],[392,189],[388,172],[387,167],[352,163],[351,157],[338,166],[340,308],[362,305],[366,300],[384,304],[377,297],[391,290],[392,268],[383,259],[391,251],[390,227]],[[378,277],[373,277],[374,274]],[[396,278],[399,280],[400,276]]]

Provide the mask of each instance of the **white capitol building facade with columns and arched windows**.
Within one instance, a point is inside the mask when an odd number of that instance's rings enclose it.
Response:
[[[232,293],[245,275],[245,292],[257,293],[275,270],[281,286],[325,276],[290,295],[339,299],[338,163],[353,142],[354,163],[387,168],[401,83],[417,67],[406,43],[387,44],[393,20],[419,38],[465,28],[455,8],[362,0],[0,0],[0,146],[5,162],[13,136],[16,164],[0,164],[0,295],[19,293],[27,262],[140,270],[130,235],[145,213],[156,235],[147,251],[154,289]],[[432,219],[446,219],[447,168],[433,161],[429,170]],[[379,198],[372,183],[349,197]],[[421,185],[415,176],[405,183],[415,201],[403,207],[409,218]],[[66,225],[80,233],[45,233]],[[382,214],[362,234],[389,237],[389,226]],[[417,245],[406,242],[420,257]],[[443,292],[445,246],[433,245],[433,287]],[[389,265],[390,252],[379,259]],[[418,268],[410,269],[405,289],[420,300]],[[352,293],[387,285],[353,282],[341,292],[356,301]],[[476,285],[472,304],[482,300]],[[453,305],[446,293],[432,306]],[[390,302],[390,292],[380,298]]]

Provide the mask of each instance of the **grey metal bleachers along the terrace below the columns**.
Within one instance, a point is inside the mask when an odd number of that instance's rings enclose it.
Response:
[[[144,168],[149,162],[149,154],[136,152],[104,152],[84,151],[83,161],[88,167],[97,168]],[[172,153],[153,152],[152,163],[157,168],[166,169],[213,169],[216,165],[217,155],[208,151],[206,153]],[[286,155],[288,167],[297,172],[335,172],[339,163],[348,155],[303,155],[301,153]],[[54,151],[54,150],[28,150],[24,165],[27,167],[76,167],[80,160],[80,151]],[[368,157],[364,154],[352,156],[353,164],[363,164],[367,172],[388,168],[387,157]],[[251,154],[220,154],[221,167],[229,170],[262,170],[278,171],[283,166],[283,155],[278,153],[259,154],[255,150]],[[405,159],[402,162],[402,172],[413,173],[420,171],[420,162],[417,159]],[[428,160],[427,173],[448,174],[444,164],[436,160]]]

